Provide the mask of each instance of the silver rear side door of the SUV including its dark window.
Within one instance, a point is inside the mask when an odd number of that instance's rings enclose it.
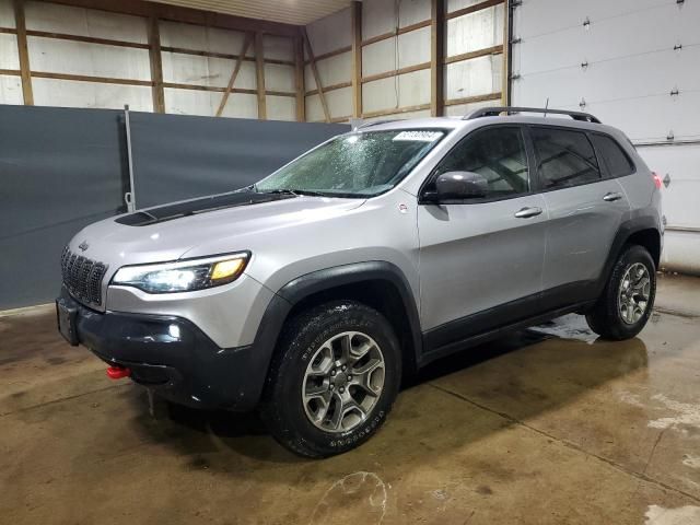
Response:
[[[529,126],[538,184],[549,212],[544,301],[559,307],[595,299],[629,202],[583,130]]]

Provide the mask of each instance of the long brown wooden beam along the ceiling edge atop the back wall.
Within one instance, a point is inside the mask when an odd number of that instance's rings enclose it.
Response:
[[[79,8],[96,9],[113,13],[132,14],[147,19],[155,18],[186,24],[208,25],[222,30],[262,32],[270,35],[296,36],[299,26],[268,22],[265,20],[246,19],[232,14],[201,11],[198,9],[170,5],[165,3],[149,2],[144,0],[49,0],[51,3],[74,5]]]

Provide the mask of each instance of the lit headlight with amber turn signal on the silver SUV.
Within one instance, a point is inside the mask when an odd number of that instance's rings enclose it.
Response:
[[[149,293],[190,292],[235,281],[248,262],[249,254],[221,255],[201,259],[124,266],[112,284],[135,287]]]

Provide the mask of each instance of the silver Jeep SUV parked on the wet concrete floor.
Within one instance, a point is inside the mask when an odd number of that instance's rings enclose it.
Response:
[[[329,456],[376,432],[402,376],[505,330],[576,312],[634,337],[662,223],[658,177],[592,115],[370,124],[254,186],[88,226],[59,329],[112,377],[257,408]]]

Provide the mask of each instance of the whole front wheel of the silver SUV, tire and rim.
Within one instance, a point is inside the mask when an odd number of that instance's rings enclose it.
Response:
[[[326,303],[285,325],[261,416],[296,454],[340,454],[377,431],[400,375],[398,341],[382,314],[354,301]]]

